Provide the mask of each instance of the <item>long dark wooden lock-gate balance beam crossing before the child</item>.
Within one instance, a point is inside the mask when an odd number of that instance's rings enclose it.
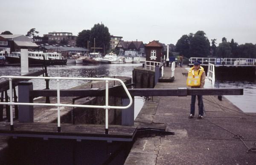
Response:
[[[191,96],[191,95],[208,95],[208,96],[221,96],[221,95],[243,95],[243,89],[151,89],[151,88],[141,88],[141,89],[128,89],[131,96]],[[105,96],[104,90],[61,90],[60,95],[62,97],[97,97]],[[33,98],[39,96],[51,96],[57,97],[57,90],[33,90],[31,92]],[[115,97],[127,97],[124,89],[122,87],[112,88],[109,90],[109,96]]]

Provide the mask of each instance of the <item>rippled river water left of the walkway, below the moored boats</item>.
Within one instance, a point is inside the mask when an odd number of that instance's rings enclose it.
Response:
[[[105,77],[105,76],[126,76],[132,77],[132,71],[135,67],[142,64],[99,64],[99,65],[82,65],[73,64],[70,66],[48,66],[48,75],[50,77]],[[37,71],[42,67],[29,67],[29,72]],[[1,67],[0,75],[20,75],[20,67]],[[3,81],[3,80],[0,80]],[[33,88],[44,89],[44,80],[31,80],[33,82]],[[61,80],[61,89],[69,89],[76,87],[87,81],[81,80]],[[49,81],[50,89],[56,89],[56,81]],[[134,118],[140,112],[143,107],[145,99],[143,97],[135,97],[135,112]]]

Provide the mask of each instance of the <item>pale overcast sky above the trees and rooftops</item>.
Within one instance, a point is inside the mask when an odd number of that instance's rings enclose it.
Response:
[[[203,30],[209,40],[256,43],[256,0],[1,0],[0,32],[23,34],[108,26],[125,41],[177,43]]]

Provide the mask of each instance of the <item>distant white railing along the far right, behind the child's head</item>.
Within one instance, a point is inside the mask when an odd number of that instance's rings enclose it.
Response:
[[[215,64],[215,65],[234,65],[234,66],[253,66],[256,63],[256,58],[189,58],[190,64],[195,61],[201,61],[202,65]]]

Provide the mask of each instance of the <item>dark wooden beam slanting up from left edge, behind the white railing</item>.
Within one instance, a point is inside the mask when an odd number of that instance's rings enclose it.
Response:
[[[35,71],[35,72],[29,72],[28,74],[22,75],[22,76],[35,76],[36,77],[36,76],[44,74],[44,72],[45,72],[45,70],[42,69],[42,70]],[[17,84],[20,81],[29,81],[29,79],[16,79],[15,78],[12,80],[12,86],[13,87],[17,86]],[[0,82],[0,92],[5,91],[5,90],[9,90],[9,80]]]

